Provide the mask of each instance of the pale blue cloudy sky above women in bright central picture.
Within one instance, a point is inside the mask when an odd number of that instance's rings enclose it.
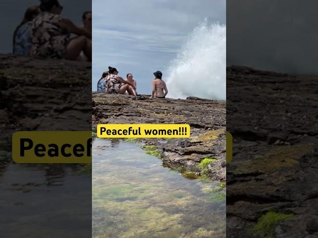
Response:
[[[138,93],[150,94],[153,72],[164,78],[199,22],[226,23],[226,0],[92,0],[92,10],[93,91],[113,66],[124,78],[133,73]]]

